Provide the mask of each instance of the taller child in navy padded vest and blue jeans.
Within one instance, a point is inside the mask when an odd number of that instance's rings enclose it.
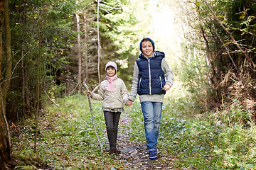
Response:
[[[156,144],[159,137],[164,94],[173,84],[173,74],[164,60],[164,52],[154,50],[153,40],[143,38],[139,48],[142,53],[134,65],[132,90],[127,105],[132,105],[135,97],[139,94],[149,159],[157,159]]]

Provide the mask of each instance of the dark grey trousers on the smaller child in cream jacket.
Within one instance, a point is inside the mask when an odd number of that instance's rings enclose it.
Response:
[[[110,142],[110,149],[117,147],[117,131],[121,112],[104,111],[105,123],[107,127],[107,137]]]

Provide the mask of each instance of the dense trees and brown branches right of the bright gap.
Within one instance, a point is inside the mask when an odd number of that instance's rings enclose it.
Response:
[[[182,78],[198,107],[255,111],[253,1],[190,1]],[[196,14],[196,15],[195,15]],[[192,32],[191,32],[192,31]]]

